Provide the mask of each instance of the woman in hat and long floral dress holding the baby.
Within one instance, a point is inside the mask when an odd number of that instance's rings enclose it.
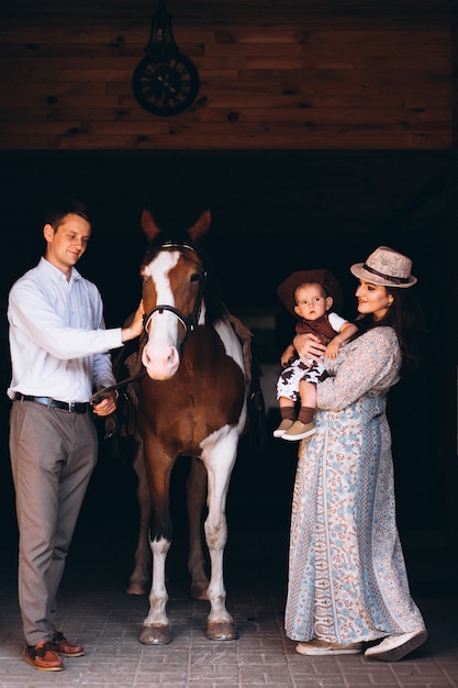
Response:
[[[427,637],[395,524],[386,415],[388,390],[416,360],[411,268],[387,246],[350,268],[358,333],[326,359],[331,377],[317,387],[316,432],[301,443],[294,485],[286,631],[300,654],[358,654],[370,643],[368,658],[394,662]],[[323,355],[314,335],[294,346]]]

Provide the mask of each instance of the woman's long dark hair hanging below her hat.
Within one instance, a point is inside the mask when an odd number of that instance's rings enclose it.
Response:
[[[393,302],[387,314],[377,322],[370,314],[364,315],[360,320],[357,319],[358,333],[355,336],[359,336],[373,328],[387,325],[393,328],[401,347],[401,374],[412,374],[420,368],[422,360],[422,348],[426,333],[423,312],[412,288],[386,287],[386,289],[393,297]]]

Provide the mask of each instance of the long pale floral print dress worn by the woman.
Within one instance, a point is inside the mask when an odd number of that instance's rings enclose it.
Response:
[[[369,330],[326,360],[316,432],[294,484],[286,632],[295,641],[372,641],[424,630],[395,524],[386,396],[399,380],[392,328]]]

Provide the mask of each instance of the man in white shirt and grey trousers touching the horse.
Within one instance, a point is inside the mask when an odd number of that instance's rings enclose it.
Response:
[[[105,330],[97,287],[75,268],[91,234],[86,207],[64,199],[45,218],[44,257],[11,288],[8,320],[12,379],[10,455],[19,525],[19,603],[24,659],[59,672],[78,657],[54,623],[65,559],[97,462],[92,412],[116,408],[109,351],[142,332],[142,304],[129,328]]]

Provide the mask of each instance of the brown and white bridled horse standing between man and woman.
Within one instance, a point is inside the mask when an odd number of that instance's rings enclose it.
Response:
[[[164,236],[148,211],[143,213],[142,226],[149,242],[141,268],[145,310],[141,357],[147,375],[139,384],[137,418],[144,465],[137,458],[136,470],[141,500],[142,490],[145,499],[142,474],[149,491],[153,581],[139,640],[145,644],[171,640],[165,567],[171,543],[170,474],[179,456],[192,457],[187,482],[191,591],[210,601],[206,636],[234,640],[237,631],[226,609],[223,554],[227,489],[246,422],[246,356],[232,317],[222,302],[211,300],[197,248],[210,228],[210,211],[179,238]],[[205,497],[210,581],[201,537]],[[144,544],[141,525],[131,591],[144,582]]]

